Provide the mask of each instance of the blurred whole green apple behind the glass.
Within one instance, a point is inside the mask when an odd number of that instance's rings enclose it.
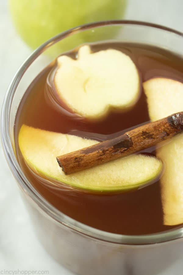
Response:
[[[52,36],[75,26],[122,19],[126,2],[127,0],[9,0],[9,8],[17,32],[35,49]]]

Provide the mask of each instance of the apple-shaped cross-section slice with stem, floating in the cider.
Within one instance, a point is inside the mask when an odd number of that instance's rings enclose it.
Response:
[[[79,49],[77,60],[60,56],[57,62],[56,91],[81,116],[99,119],[110,108],[123,109],[138,100],[138,70],[131,58],[118,50],[91,53],[85,45]]]

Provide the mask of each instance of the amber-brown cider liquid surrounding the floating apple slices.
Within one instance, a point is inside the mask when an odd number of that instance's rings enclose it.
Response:
[[[55,179],[50,179],[47,175],[37,172],[36,169],[33,171],[26,163],[20,150],[19,133],[22,125],[45,130],[44,135],[46,135],[46,131],[51,131],[85,139],[105,141],[123,134],[127,129],[129,130],[150,120],[161,118],[153,117],[152,115],[153,112],[149,102],[154,99],[149,96],[149,91],[157,86],[157,93],[161,94],[163,90],[161,90],[161,85],[163,87],[166,85],[170,87],[174,84],[176,86],[176,83],[182,85],[183,61],[181,58],[166,50],[147,45],[130,43],[91,45],[93,53],[107,49],[116,49],[125,53],[131,58],[137,68],[140,84],[139,95],[134,104],[124,108],[122,111],[111,108],[106,116],[100,119],[91,119],[78,115],[70,108],[67,108],[65,102],[61,102],[59,105],[56,92],[54,88],[52,89],[53,75],[56,69],[55,61],[54,65],[52,63],[34,79],[20,102],[14,127],[18,161],[34,188],[54,207],[79,222],[107,232],[128,235],[150,234],[170,230],[180,226],[182,221],[163,222],[163,220],[165,221],[163,219],[163,211],[167,211],[167,208],[163,210],[162,206],[162,201],[164,202],[166,199],[165,195],[165,199],[163,197],[162,200],[162,190],[164,190],[163,188],[166,184],[166,177],[164,176],[165,180],[162,180],[163,183],[161,182],[161,177],[166,169],[169,169],[169,166],[166,163],[166,158],[164,158],[166,154],[159,149],[157,151],[155,147],[149,148],[141,152],[141,154],[144,156],[156,156],[162,160],[163,169],[160,175],[153,178],[147,185],[118,192],[83,190],[58,182]],[[67,55],[76,59],[77,50],[67,53]],[[148,82],[149,80],[151,82]],[[162,81],[165,81],[165,84],[161,84],[160,82]],[[170,81],[170,84],[168,81]],[[142,83],[145,83],[145,85]],[[172,89],[177,91],[179,87],[173,87]],[[147,90],[147,93],[145,90]],[[155,92],[152,91],[152,93],[156,95]],[[150,98],[149,101],[147,100],[148,97]],[[161,103],[161,106],[164,105],[166,105],[166,100]],[[153,110],[157,108],[155,106]],[[166,108],[166,106],[162,108]],[[170,112],[170,114],[172,113],[174,112]],[[167,115],[169,113],[162,114],[162,118]],[[30,139],[32,139],[31,135]],[[42,142],[38,137],[38,148],[39,145],[42,146]],[[29,138],[25,140],[25,143],[29,146]],[[168,150],[171,151],[173,149],[169,148]],[[37,154],[39,155],[39,152]],[[87,181],[87,178],[85,181]]]

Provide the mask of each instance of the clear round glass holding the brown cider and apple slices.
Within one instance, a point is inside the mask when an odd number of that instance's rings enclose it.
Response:
[[[152,275],[165,269],[168,275],[172,263],[183,267],[183,228],[151,235],[127,236],[86,226],[49,204],[27,180],[16,159],[14,120],[20,100],[31,81],[63,51],[82,43],[106,40],[158,46],[183,57],[183,34],[143,22],[96,22],[53,37],[31,54],[9,85],[1,117],[4,153],[39,240],[63,266],[83,275]],[[47,51],[52,59],[43,54]]]

